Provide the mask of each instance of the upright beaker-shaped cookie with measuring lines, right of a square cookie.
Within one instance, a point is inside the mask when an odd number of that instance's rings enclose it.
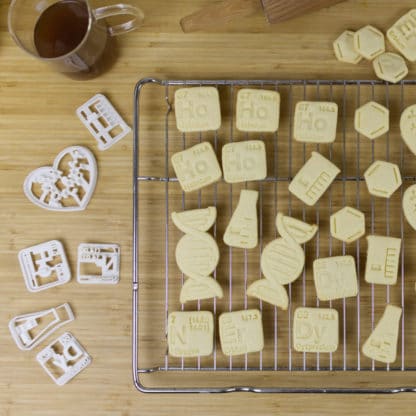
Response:
[[[380,285],[395,285],[399,269],[400,238],[370,235],[367,237],[365,281]]]

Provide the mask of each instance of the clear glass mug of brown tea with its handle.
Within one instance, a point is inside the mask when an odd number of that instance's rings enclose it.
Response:
[[[128,15],[130,20],[108,26],[105,18]],[[143,12],[127,4],[91,8],[88,0],[12,0],[8,27],[24,51],[59,72],[96,76],[114,60],[113,36],[135,29]]]

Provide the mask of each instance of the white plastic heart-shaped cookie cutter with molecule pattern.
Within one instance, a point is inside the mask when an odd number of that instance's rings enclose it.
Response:
[[[81,211],[94,193],[97,163],[85,147],[71,146],[58,154],[53,166],[32,171],[23,190],[30,202],[50,211]]]

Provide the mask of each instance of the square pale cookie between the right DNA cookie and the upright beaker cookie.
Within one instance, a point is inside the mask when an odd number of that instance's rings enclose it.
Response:
[[[352,256],[316,259],[313,280],[319,300],[334,300],[357,296],[357,272]]]

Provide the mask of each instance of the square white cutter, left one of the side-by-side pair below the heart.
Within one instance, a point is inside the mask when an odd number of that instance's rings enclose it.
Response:
[[[39,292],[71,280],[71,271],[62,243],[51,240],[20,250],[20,268],[27,290]]]

